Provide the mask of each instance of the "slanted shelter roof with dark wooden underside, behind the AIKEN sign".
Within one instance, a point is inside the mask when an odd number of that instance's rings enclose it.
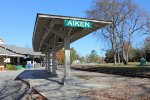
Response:
[[[79,21],[90,21],[92,22],[92,28],[75,28],[75,27],[65,27],[64,20],[79,20]],[[61,40],[62,43],[56,43],[58,49],[63,47],[64,34],[71,29],[70,32],[70,42],[74,42],[93,31],[98,30],[106,25],[111,24],[111,22],[77,18],[69,16],[58,16],[58,15],[47,15],[47,14],[37,14],[34,32],[32,37],[32,44],[34,51],[45,52],[52,45],[54,36],[56,40]]]

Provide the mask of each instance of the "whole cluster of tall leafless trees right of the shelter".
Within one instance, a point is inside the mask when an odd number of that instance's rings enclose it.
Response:
[[[93,8],[87,10],[87,17],[112,21],[111,26],[103,28],[99,34],[109,40],[114,64],[116,64],[116,57],[120,63],[120,51],[122,51],[124,63],[127,64],[132,35],[144,30],[145,27],[142,11],[138,12],[138,6],[132,0],[96,0],[94,4]],[[126,52],[125,42],[128,43]]]

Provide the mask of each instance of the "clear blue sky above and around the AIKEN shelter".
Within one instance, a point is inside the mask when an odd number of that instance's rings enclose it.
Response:
[[[150,0],[134,0],[150,13]],[[37,13],[86,17],[92,0],[0,0],[0,38],[6,44],[32,48],[32,34]],[[80,55],[96,50],[104,55],[103,45],[92,34],[71,44]]]

